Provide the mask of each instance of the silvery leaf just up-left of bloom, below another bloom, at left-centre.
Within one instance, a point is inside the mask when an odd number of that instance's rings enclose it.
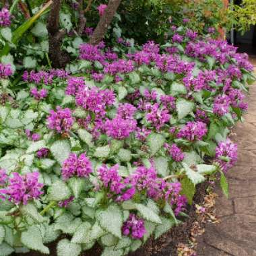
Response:
[[[69,157],[70,144],[67,140],[57,140],[50,148],[55,159],[62,164]]]

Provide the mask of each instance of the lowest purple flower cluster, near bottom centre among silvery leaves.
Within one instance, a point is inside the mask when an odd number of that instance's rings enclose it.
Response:
[[[130,214],[128,220],[123,224],[123,234],[131,235],[133,239],[141,239],[146,234],[144,220],[137,218],[135,214]]]

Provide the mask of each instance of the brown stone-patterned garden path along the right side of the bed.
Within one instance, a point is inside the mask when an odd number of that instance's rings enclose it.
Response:
[[[256,71],[256,57],[251,61]],[[227,174],[230,197],[217,189],[221,222],[206,224],[198,256],[256,256],[256,84],[248,101],[245,123],[237,125],[231,137],[238,144],[238,162]]]

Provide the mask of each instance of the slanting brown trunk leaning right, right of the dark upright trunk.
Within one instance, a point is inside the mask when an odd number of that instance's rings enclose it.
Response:
[[[108,26],[110,25],[110,23],[114,18],[114,15],[121,1],[122,0],[108,1],[108,7],[106,7],[104,14],[100,18],[100,21],[98,22],[98,25],[94,30],[92,37],[90,38],[90,41],[89,41],[90,44],[96,45],[102,40],[102,38],[104,37],[104,34],[106,34],[106,30],[108,30]]]

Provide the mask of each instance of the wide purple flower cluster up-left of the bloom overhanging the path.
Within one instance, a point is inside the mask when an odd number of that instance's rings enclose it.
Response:
[[[207,133],[207,127],[203,122],[188,122],[177,134],[178,138],[184,138],[189,141],[201,140]]]

